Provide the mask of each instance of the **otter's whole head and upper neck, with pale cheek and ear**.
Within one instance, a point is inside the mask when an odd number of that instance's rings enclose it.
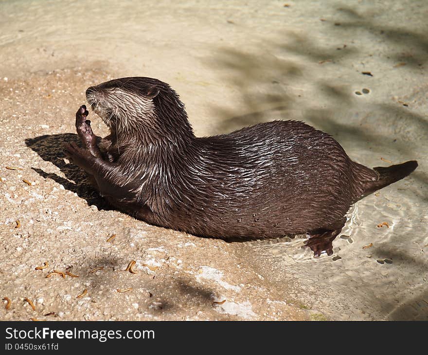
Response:
[[[184,105],[166,83],[146,77],[107,81],[86,90],[86,99],[112,133],[157,142],[193,136]],[[194,137],[194,136],[193,136]]]

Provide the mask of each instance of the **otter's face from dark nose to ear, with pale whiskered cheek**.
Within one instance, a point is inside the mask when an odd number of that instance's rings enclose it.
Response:
[[[89,87],[86,99],[110,129],[125,131],[153,119],[153,99],[162,84],[166,85],[157,79],[143,77],[114,79]]]

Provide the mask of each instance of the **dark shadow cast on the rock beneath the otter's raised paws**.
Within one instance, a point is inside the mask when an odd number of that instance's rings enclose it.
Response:
[[[65,178],[55,173],[47,173],[36,167],[32,167],[32,169],[41,177],[50,178],[64,186],[65,189],[84,198],[88,202],[88,205],[95,205],[98,210],[112,210],[107,201],[89,183],[82,169],[72,163],[65,162],[64,158],[66,156],[63,152],[64,142],[79,144],[80,139],[77,134],[64,133],[27,138],[25,140],[27,147],[35,151],[43,160],[50,161],[57,166],[64,173]]]

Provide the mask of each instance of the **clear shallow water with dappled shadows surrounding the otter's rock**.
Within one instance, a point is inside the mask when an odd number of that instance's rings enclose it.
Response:
[[[197,135],[292,118],[364,165],[418,160],[410,177],[351,208],[333,256],[312,258],[303,236],[243,248],[255,270],[287,284],[286,299],[328,319],[428,320],[426,1],[2,1],[0,10],[1,78],[75,67],[106,80],[152,76],[178,91]]]

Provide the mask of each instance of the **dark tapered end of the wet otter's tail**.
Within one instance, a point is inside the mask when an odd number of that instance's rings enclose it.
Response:
[[[407,177],[418,166],[416,160],[406,161],[402,164],[391,165],[388,167],[377,166],[373,170],[377,174],[375,181],[366,182],[364,186],[364,196],[370,195],[382,187],[388,186],[395,181]]]

